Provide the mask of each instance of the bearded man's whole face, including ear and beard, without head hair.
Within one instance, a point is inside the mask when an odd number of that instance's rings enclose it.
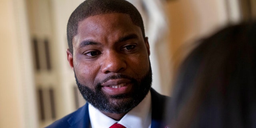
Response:
[[[148,40],[127,14],[100,14],[79,22],[73,51],[67,55],[78,88],[99,110],[128,112],[148,93]]]

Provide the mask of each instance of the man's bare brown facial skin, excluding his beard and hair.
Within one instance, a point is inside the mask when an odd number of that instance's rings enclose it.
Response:
[[[73,51],[72,54],[67,50],[70,67],[78,81],[91,89],[111,75],[124,74],[140,80],[150,67],[148,38],[143,38],[140,27],[134,25],[127,14],[99,14],[79,22]],[[122,103],[128,98],[110,96],[130,94],[133,86],[125,78],[109,80],[102,84],[102,92],[113,104]],[[114,120],[120,120],[127,113],[101,112]]]

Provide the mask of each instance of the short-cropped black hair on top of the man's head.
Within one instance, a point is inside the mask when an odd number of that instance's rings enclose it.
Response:
[[[78,23],[90,16],[110,13],[128,14],[132,22],[139,26],[145,38],[145,30],[140,12],[126,0],[85,0],[72,12],[67,25],[68,47],[73,53],[72,39],[77,34]]]

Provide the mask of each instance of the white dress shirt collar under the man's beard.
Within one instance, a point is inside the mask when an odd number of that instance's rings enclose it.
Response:
[[[91,128],[109,128],[116,122],[126,128],[150,128],[151,127],[151,94],[130,110],[120,121],[116,121],[89,104],[89,116]]]

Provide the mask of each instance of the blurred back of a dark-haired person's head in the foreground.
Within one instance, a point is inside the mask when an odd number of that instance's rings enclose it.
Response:
[[[256,128],[256,23],[202,40],[181,65],[169,103],[170,128]]]

